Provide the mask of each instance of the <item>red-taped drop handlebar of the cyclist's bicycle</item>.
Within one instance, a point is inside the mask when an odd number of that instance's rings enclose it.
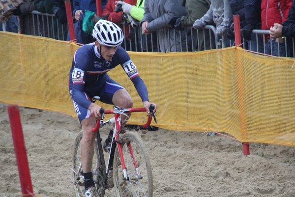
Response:
[[[149,112],[152,113],[155,123],[157,123],[156,115],[153,112],[153,110],[155,109],[155,106],[151,104],[148,109],[149,109]],[[112,114],[112,113],[119,113],[119,112],[132,113],[132,112],[146,112],[146,111],[147,110],[145,108],[125,108],[124,109],[124,108],[118,108],[117,106],[115,106],[113,110],[104,110],[103,108],[101,108],[99,113],[101,114],[102,118],[99,121],[98,120],[96,121],[96,125],[94,128],[91,129],[91,131],[92,132],[98,131],[100,125],[103,123],[104,114]],[[142,127],[146,129],[148,128],[150,123],[151,123],[151,116],[148,115],[148,121],[146,122],[146,124],[142,125]]]

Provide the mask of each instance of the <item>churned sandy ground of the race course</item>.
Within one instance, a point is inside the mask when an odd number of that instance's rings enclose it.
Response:
[[[77,119],[20,108],[33,191],[75,197],[70,180]],[[109,128],[101,129],[106,138]],[[146,142],[154,197],[295,197],[295,148],[240,142],[200,132],[139,131]],[[0,197],[21,197],[7,105],[0,104]],[[114,197],[114,191],[105,197]]]

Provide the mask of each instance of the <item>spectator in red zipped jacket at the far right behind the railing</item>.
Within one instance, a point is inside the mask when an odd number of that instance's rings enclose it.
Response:
[[[282,24],[288,18],[293,0],[262,0],[261,3],[261,22],[262,29],[269,30],[275,24]],[[266,35],[266,54],[272,56],[286,56],[285,39],[282,37],[272,39],[270,35]],[[291,43],[289,40],[286,44]],[[279,44],[278,44],[279,43]],[[288,47],[291,51],[292,46]],[[288,55],[290,56],[290,54]]]

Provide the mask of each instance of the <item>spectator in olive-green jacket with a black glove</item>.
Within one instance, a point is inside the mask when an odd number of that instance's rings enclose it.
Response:
[[[210,4],[210,0],[183,0],[182,6],[185,6],[187,14],[181,16],[181,18],[174,18],[172,21],[172,25],[175,26],[175,28],[177,29],[181,29],[181,27],[192,27],[197,19],[202,18],[206,14],[206,12],[210,8]],[[193,40],[194,51],[215,49],[214,36],[212,35],[210,40],[208,29],[201,29],[199,30],[199,33],[196,29],[193,29]],[[212,43],[214,44],[212,45]]]

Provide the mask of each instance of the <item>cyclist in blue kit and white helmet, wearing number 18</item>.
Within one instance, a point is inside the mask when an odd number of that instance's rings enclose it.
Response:
[[[99,96],[103,103],[121,108],[133,107],[131,96],[127,90],[111,79],[107,72],[120,64],[133,82],[147,113],[149,113],[150,104],[155,106],[154,112],[157,109],[157,106],[148,100],[147,87],[138,75],[136,66],[127,52],[119,46],[124,38],[122,30],[110,21],[99,20],[94,26],[92,36],[96,41],[84,45],[76,51],[69,72],[70,96],[83,129],[81,162],[86,197],[98,196],[91,174],[94,154],[93,142],[95,140],[95,133],[91,132],[91,129],[95,127],[96,119],[100,119],[99,110],[101,107],[92,103],[91,98]],[[105,151],[109,151],[112,137],[113,131],[111,129],[104,143]]]

